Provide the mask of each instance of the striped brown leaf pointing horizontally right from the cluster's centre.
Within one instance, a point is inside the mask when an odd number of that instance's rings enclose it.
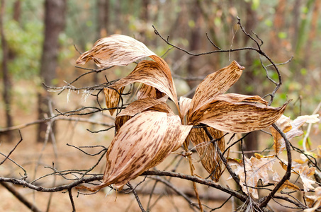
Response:
[[[188,124],[200,122],[221,131],[245,133],[270,126],[281,117],[287,105],[269,107],[227,99],[228,95],[217,96],[213,102],[188,117]],[[244,95],[240,99],[243,100]]]

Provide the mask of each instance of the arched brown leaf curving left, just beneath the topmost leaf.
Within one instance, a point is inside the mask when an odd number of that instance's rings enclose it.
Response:
[[[130,83],[144,83],[157,88],[162,93],[166,93],[179,107],[175,86],[169,74],[169,69],[164,69],[164,66],[156,61],[140,61],[132,73],[120,79],[111,87],[118,90]]]

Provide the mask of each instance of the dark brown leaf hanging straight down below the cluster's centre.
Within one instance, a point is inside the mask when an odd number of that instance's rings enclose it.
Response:
[[[225,150],[223,132],[211,127],[208,127],[208,131],[214,139],[218,139],[215,143],[218,144],[218,148],[223,152]],[[205,170],[210,174],[210,177],[215,182],[218,182],[218,179],[220,179],[220,175],[222,174],[222,161],[220,160],[215,146],[213,143],[210,143],[210,139],[208,139],[205,131],[202,128],[191,129],[187,140],[191,141],[193,146],[195,146],[196,151],[201,158],[201,163]]]

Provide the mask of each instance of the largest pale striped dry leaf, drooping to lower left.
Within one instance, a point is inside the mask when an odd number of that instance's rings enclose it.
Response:
[[[178,116],[147,111],[126,122],[107,152],[103,182],[87,189],[94,191],[110,184],[116,189],[154,167],[184,143],[192,126],[181,125]]]

